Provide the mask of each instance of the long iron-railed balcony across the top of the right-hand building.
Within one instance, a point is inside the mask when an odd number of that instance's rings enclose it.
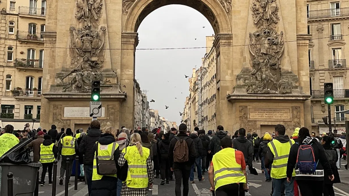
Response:
[[[349,16],[349,7],[337,9],[310,10],[307,16],[308,19]]]

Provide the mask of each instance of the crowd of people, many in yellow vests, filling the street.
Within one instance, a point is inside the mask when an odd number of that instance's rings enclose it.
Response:
[[[64,161],[59,184],[64,184],[65,176],[70,184],[79,156],[80,169],[74,175],[86,179],[90,196],[146,196],[153,190],[154,178],[161,178],[162,186],[175,181],[175,195],[188,196],[195,171],[199,182],[208,172],[210,190],[216,196],[244,195],[256,161],[261,161],[266,182],[272,182],[272,196],[334,196],[333,184],[340,183],[338,163],[346,156],[339,138],[346,137],[345,133],[314,137],[305,127],[296,128],[290,137],[285,132],[283,125],[276,125],[272,134],[259,137],[240,128],[231,137],[223,126],[206,134],[198,127],[189,131],[184,123],[168,133],[146,127],[102,130],[94,120],[86,132],[79,129],[74,134],[70,128],[58,132],[55,125],[49,131],[31,130],[29,124],[14,131],[7,125],[0,134],[0,157],[32,138],[27,148],[32,149],[32,161],[42,164],[40,185],[45,186],[46,172],[51,185],[53,162],[60,157]]]

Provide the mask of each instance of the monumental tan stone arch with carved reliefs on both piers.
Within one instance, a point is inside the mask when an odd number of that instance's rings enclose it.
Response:
[[[285,125],[288,134],[295,127],[311,128],[307,66],[311,37],[306,35],[304,0],[272,0],[265,4],[259,0],[90,2],[87,6],[84,3],[89,2],[83,0],[47,2],[46,32],[42,34],[49,50],[44,59],[48,63],[43,70],[46,85],[43,85],[41,104],[42,127],[55,124],[58,128],[73,129],[90,122],[91,118],[85,114],[90,93],[84,85],[91,76],[102,78],[103,82],[102,127],[133,128],[138,27],[155,9],[180,4],[202,13],[215,32],[217,125],[232,132],[244,127],[248,132],[259,134],[272,131],[270,129],[278,123]],[[260,19],[263,14],[269,18]],[[84,29],[86,26],[90,29]],[[258,37],[263,35],[257,35],[265,32],[263,29],[269,30],[269,37],[274,41],[263,43],[266,44],[266,47],[261,46],[263,55],[258,55],[254,52],[260,53],[260,43],[266,42]],[[85,36],[88,31],[90,36]],[[251,49],[251,43],[257,49]],[[99,50],[101,48],[103,50]],[[272,52],[280,56],[276,58]],[[269,60],[263,59],[269,53]],[[84,56],[87,56],[86,62]],[[91,68],[86,68],[88,66]],[[270,75],[266,71],[275,72],[275,67],[280,73]],[[274,76],[276,81],[273,82]]]

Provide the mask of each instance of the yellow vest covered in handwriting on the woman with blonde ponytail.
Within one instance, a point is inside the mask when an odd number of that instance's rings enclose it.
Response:
[[[148,169],[147,159],[150,150],[142,146],[143,156],[139,154],[137,146],[128,146],[122,149],[125,153],[125,159],[128,164],[126,186],[129,188],[147,188],[148,187]]]

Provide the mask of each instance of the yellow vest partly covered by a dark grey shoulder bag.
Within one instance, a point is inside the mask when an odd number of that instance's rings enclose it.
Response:
[[[96,142],[97,143],[97,142]],[[114,159],[114,152],[119,147],[119,144],[116,142],[113,142],[108,145],[101,145],[98,143],[97,150],[98,150],[98,159],[100,160],[113,160]],[[95,157],[93,159],[93,171],[92,171],[92,180],[101,180],[103,175],[99,175],[97,173],[97,160],[96,160],[96,152]],[[106,176],[112,176],[117,178],[117,175],[106,175]]]

